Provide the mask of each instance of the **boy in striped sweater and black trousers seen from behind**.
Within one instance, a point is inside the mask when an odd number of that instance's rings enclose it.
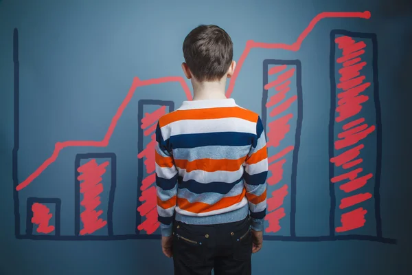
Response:
[[[236,66],[225,30],[198,26],[183,56],[194,98],[163,115],[156,130],[162,250],[173,256],[174,274],[251,274],[266,214],[263,124],[225,96]]]

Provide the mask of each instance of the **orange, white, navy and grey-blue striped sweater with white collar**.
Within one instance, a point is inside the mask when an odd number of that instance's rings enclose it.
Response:
[[[268,159],[260,116],[232,98],[184,101],[156,129],[157,212],[162,236],[188,224],[240,221],[263,230]]]

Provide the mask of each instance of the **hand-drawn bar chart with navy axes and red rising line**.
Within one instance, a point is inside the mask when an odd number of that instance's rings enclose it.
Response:
[[[328,18],[369,19],[369,12],[322,12],[314,17],[295,43],[258,43],[248,41],[238,61],[226,96],[229,98],[236,78],[253,48],[299,51],[314,26]],[[20,191],[34,183],[44,170],[58,159],[67,147],[104,148],[108,146],[118,120],[137,89],[161,83],[180,83],[187,100],[192,95],[181,77],[150,80],[135,78],[128,94],[115,113],[100,141],[67,141],[54,146],[52,156],[34,172],[19,181],[19,34],[14,29],[14,217],[17,239],[34,240],[124,240],[159,239],[155,187],[154,135],[161,115],[174,111],[178,102],[141,99],[138,104],[139,123],[136,157],[137,194],[135,203],[135,234],[117,234],[113,226],[116,212],[116,153],[78,153],[74,162],[73,234],[61,234],[64,203],[61,197],[23,197]],[[302,67],[299,60],[267,59],[262,69],[262,110],[269,155],[268,208],[264,239],[273,241],[336,241],[368,240],[396,243],[382,236],[380,217],[381,124],[378,98],[377,39],[375,34],[332,30],[330,33],[330,122],[329,122],[329,234],[301,236],[296,231],[297,163],[304,124]],[[367,66],[369,64],[369,66]],[[374,117],[366,117],[368,111]],[[40,162],[40,160],[39,160]],[[70,168],[72,169],[72,168]],[[21,204],[22,203],[22,204]],[[70,204],[69,204],[70,205]],[[27,209],[25,234],[21,234],[20,209]],[[368,214],[367,214],[368,213]]]

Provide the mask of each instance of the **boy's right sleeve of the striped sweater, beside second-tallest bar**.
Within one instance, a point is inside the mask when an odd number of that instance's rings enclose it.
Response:
[[[266,177],[268,175],[268,151],[262,120],[256,122],[256,137],[244,163],[244,186],[249,201],[252,229],[263,230],[266,215]]]

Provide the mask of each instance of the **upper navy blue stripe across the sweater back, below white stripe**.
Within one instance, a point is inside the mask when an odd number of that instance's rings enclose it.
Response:
[[[244,146],[251,145],[256,135],[252,133],[219,132],[172,135],[168,140],[172,148],[195,148],[200,146]],[[166,143],[168,143],[166,140]]]

